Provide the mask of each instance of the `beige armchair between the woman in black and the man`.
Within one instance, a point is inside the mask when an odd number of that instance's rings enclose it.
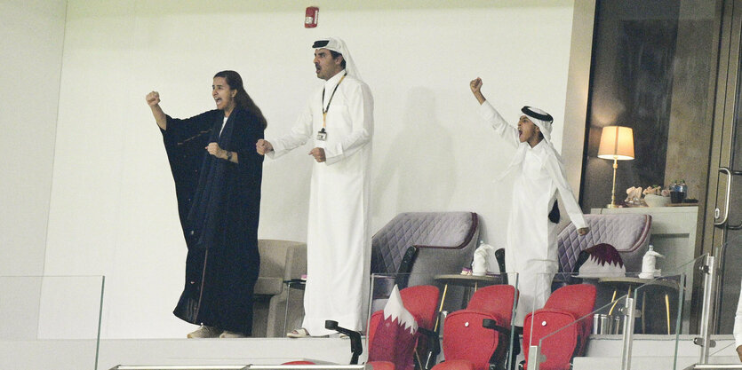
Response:
[[[304,314],[304,291],[288,292],[283,282],[307,273],[307,243],[290,240],[258,240],[260,272],[255,283],[252,335],[283,337],[286,327],[299,327]],[[287,299],[291,299],[287,304]],[[286,310],[288,307],[288,315]]]

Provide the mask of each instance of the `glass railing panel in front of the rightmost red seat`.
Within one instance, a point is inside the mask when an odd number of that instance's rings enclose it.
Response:
[[[685,274],[557,273],[527,279],[522,274],[519,285],[521,304],[528,308],[523,318],[527,368],[537,368],[537,363],[538,368],[566,368],[575,358],[583,361],[579,368],[590,368],[589,361],[629,368],[624,366],[636,356],[634,335],[666,337],[682,327]],[[583,358],[591,340],[612,341],[611,350],[594,350],[591,358]],[[620,350],[616,341],[621,341]],[[669,364],[662,368],[669,368],[676,348],[660,347],[652,356],[666,358]]]

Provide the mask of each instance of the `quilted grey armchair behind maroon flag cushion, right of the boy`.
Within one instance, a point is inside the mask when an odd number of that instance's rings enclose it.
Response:
[[[579,252],[600,243],[618,250],[626,272],[642,271],[642,257],[650,244],[650,215],[585,215],[585,221],[590,227],[585,236],[579,236],[572,223],[557,236],[559,272],[573,272]]]

